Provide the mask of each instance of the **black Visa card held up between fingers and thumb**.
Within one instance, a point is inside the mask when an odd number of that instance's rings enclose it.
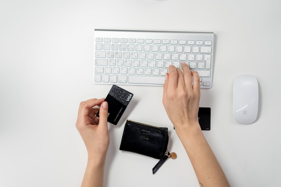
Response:
[[[132,97],[132,93],[119,86],[116,86],[115,84],[111,87],[108,95],[105,98],[105,101],[108,102],[107,121],[109,123],[117,125],[128,104],[132,100]],[[96,116],[99,117],[99,111]]]

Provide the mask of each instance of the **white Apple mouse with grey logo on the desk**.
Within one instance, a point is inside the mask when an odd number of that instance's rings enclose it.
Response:
[[[233,86],[233,117],[237,123],[253,123],[259,103],[258,81],[252,75],[238,75]]]

